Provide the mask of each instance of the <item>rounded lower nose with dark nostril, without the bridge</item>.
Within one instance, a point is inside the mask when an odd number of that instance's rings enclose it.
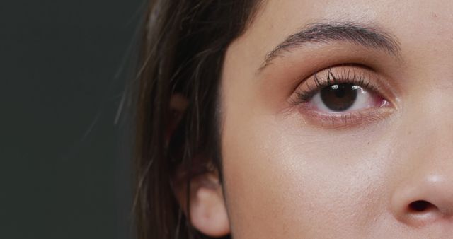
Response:
[[[393,194],[391,207],[396,218],[410,226],[449,221],[453,215],[453,175],[439,173],[418,178]]]

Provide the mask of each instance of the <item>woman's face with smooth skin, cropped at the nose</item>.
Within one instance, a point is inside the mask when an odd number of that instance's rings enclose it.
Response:
[[[451,238],[453,1],[269,0],[226,53],[234,238]]]

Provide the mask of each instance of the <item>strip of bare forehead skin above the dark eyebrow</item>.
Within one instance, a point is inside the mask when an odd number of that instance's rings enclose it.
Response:
[[[255,28],[291,33],[303,23],[316,21],[354,21],[393,26],[413,23],[413,27],[430,26],[451,20],[453,2],[437,1],[369,1],[369,0],[266,0],[256,17]],[[301,25],[302,23],[302,25]],[[258,30],[258,29],[257,29]]]

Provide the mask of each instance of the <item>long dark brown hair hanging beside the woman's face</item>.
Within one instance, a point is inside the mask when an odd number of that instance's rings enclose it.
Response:
[[[207,238],[190,226],[171,180],[182,167],[187,182],[202,170],[217,170],[222,181],[217,122],[222,63],[226,48],[253,18],[257,1],[150,1],[134,93],[138,238]],[[176,93],[188,99],[183,115],[169,107]],[[167,140],[177,118],[178,127]],[[199,155],[210,162],[193,161]]]

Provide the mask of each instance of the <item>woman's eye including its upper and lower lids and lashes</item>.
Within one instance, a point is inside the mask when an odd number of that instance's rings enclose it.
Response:
[[[321,127],[373,122],[394,110],[384,97],[391,93],[383,81],[365,67],[331,67],[304,80],[292,97],[292,103],[302,112],[304,122]]]

